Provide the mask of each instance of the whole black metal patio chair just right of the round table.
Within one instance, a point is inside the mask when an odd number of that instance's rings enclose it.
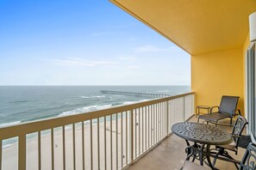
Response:
[[[234,127],[232,130],[232,137],[233,137],[233,142],[229,143],[227,145],[219,145],[216,146],[215,149],[211,149],[211,151],[215,150],[216,151],[216,155],[217,156],[223,156],[223,157],[227,157],[228,159],[234,159],[231,155],[228,154],[228,150],[233,151],[235,155],[237,155],[238,152],[238,143],[240,141],[240,137],[242,132],[244,131],[246,125],[247,125],[247,119],[239,116],[236,121],[234,122]],[[215,161],[217,159],[214,159],[213,161],[213,165],[215,165]],[[235,166],[237,167],[237,165],[235,164]]]

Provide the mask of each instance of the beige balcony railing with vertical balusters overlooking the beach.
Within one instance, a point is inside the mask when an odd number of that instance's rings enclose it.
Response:
[[[194,112],[194,93],[0,129],[0,169],[122,169]],[[12,147],[3,147],[9,138]]]

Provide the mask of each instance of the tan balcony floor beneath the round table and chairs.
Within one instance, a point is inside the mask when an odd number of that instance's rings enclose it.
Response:
[[[197,118],[190,118],[190,121],[196,121]],[[220,123],[228,124],[228,120],[220,121]],[[218,126],[220,129],[224,131],[231,132],[231,127],[223,127]],[[246,130],[245,130],[246,131]],[[244,131],[244,133],[245,133]],[[140,158],[139,161],[136,161],[134,165],[128,167],[129,170],[135,169],[147,169],[147,170],[176,170],[180,169],[185,160],[185,152],[186,143],[184,139],[172,134],[170,137],[167,137],[165,141],[159,143],[159,145],[151,150],[147,155],[144,155]],[[245,149],[239,149],[238,155],[234,155],[234,152],[229,152],[236,160],[241,160]],[[198,161],[195,161],[199,163]],[[218,160],[215,167],[219,169],[231,170],[236,169],[233,163],[220,161]]]

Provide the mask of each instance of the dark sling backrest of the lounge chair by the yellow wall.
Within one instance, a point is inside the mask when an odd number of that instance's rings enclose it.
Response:
[[[220,108],[219,108],[219,112],[226,112],[226,113],[234,114],[238,100],[239,100],[238,96],[223,95],[221,104],[220,104]]]

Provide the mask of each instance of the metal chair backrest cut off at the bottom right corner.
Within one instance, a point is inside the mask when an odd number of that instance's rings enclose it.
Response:
[[[255,170],[256,169],[256,144],[250,143],[247,151],[240,162],[240,170]]]

